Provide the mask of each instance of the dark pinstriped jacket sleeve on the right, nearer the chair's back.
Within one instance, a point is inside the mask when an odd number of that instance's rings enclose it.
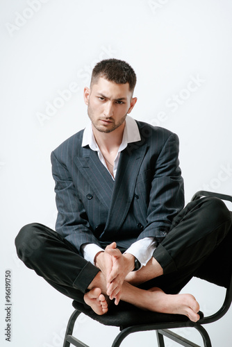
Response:
[[[147,210],[147,225],[138,239],[154,236],[158,243],[167,236],[172,219],[184,207],[184,190],[179,168],[179,138],[172,133],[156,160]]]

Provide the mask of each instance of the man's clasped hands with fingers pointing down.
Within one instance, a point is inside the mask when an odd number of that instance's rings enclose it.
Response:
[[[118,305],[122,284],[126,275],[134,269],[135,257],[130,253],[122,254],[116,247],[116,242],[113,242],[105,251],[97,253],[95,264],[106,278],[106,294],[110,300],[115,298],[115,305]]]

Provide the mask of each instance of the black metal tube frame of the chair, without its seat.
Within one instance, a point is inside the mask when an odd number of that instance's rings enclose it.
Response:
[[[201,198],[203,196],[215,196],[217,198],[221,198],[224,201],[231,201],[232,203],[232,196],[230,195],[218,194],[218,193],[206,192],[206,191],[199,191],[196,194],[194,194],[194,196],[192,197],[192,201],[196,200],[197,198]],[[230,285],[229,287],[226,288],[224,303],[222,304],[222,307],[220,307],[220,309],[217,312],[215,312],[215,314],[212,314],[211,316],[203,317],[199,319],[197,323],[194,323],[192,321],[181,321],[181,319],[180,321],[169,321],[169,319],[167,319],[167,323],[157,322],[157,323],[151,323],[151,324],[132,325],[129,327],[122,326],[120,327],[121,331],[119,332],[117,337],[115,337],[115,340],[113,341],[113,344],[111,345],[111,347],[119,347],[122,344],[122,341],[133,332],[142,332],[142,331],[148,331],[148,330],[156,330],[158,347],[165,347],[165,341],[163,338],[164,336],[168,337],[169,339],[172,339],[172,341],[176,341],[178,344],[184,347],[201,347],[197,344],[194,344],[192,341],[185,339],[184,337],[181,337],[181,335],[177,335],[176,333],[169,330],[174,328],[190,328],[190,327],[195,328],[201,334],[201,337],[204,342],[204,347],[212,347],[208,332],[202,325],[213,323],[221,319],[222,316],[224,316],[224,314],[226,314],[226,312],[229,310],[231,301],[232,301],[232,275],[231,275]],[[82,341],[76,339],[76,337],[72,336],[72,333],[74,330],[74,324],[79,314],[81,314],[81,311],[75,310],[69,319],[63,347],[69,347],[70,344],[76,347],[89,347],[88,345],[84,344]],[[168,316],[169,315],[167,314],[167,318]]]

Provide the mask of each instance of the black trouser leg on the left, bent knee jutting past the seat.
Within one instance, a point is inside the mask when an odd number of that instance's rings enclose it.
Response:
[[[15,239],[24,264],[63,294],[83,303],[83,294],[99,272],[72,244],[47,226],[31,223]]]

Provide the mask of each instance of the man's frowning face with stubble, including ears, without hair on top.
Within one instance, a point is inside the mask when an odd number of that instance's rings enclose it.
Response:
[[[95,129],[110,133],[122,126],[137,98],[132,98],[129,83],[117,84],[100,77],[90,89],[85,87],[84,99],[88,116]]]

